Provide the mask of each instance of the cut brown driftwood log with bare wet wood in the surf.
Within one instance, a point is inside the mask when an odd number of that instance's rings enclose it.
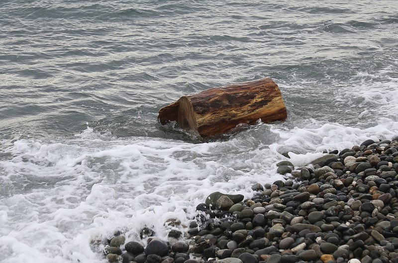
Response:
[[[254,124],[259,119],[267,123],[286,117],[281,91],[267,78],[182,96],[161,108],[158,120],[163,125],[177,121],[180,127],[207,137],[223,134],[240,123]]]

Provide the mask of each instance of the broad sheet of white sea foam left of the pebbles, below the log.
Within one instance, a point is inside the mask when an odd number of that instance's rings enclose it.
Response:
[[[216,190],[247,195],[247,181],[262,176],[234,167],[233,153],[222,157],[220,148],[237,150],[230,142],[102,140],[90,129],[82,134],[61,142],[17,140],[8,148],[13,159],[2,161],[1,168],[27,182],[0,202],[0,218],[8,225],[1,229],[7,236],[1,246],[12,251],[9,259],[96,262],[100,254],[91,251],[91,239],[120,229],[129,240],[139,240],[143,227],[167,238],[167,219],[187,226],[206,195]],[[48,183],[34,185],[36,179]],[[23,253],[25,246],[31,252]]]

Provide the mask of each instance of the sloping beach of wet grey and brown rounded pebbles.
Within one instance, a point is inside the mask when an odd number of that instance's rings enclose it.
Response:
[[[146,228],[92,249],[123,263],[398,263],[398,137],[277,167],[285,180],[251,198],[213,192],[189,226],[166,222],[168,240]]]

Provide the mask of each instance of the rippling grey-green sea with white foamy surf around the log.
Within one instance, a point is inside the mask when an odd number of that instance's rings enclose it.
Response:
[[[209,193],[283,179],[282,153],[392,139],[397,36],[396,0],[0,1],[0,262],[106,262],[91,240],[166,239]],[[157,122],[265,77],[285,121],[206,140]]]

